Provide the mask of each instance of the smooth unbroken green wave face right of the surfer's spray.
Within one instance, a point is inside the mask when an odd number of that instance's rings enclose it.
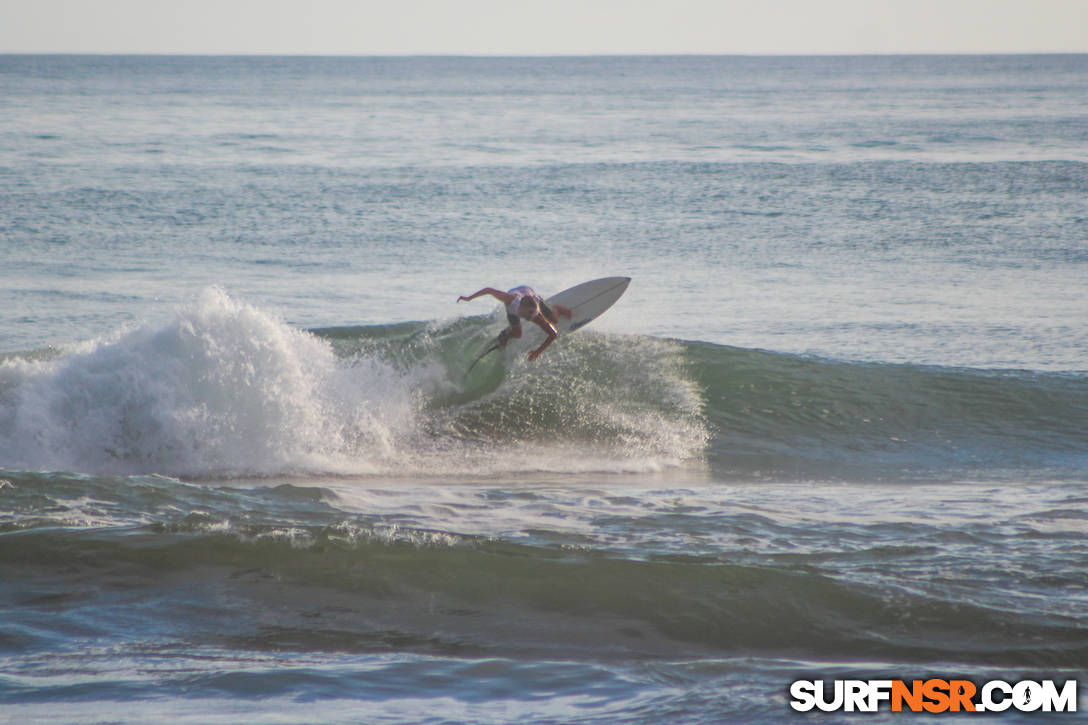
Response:
[[[1088,377],[688,347],[721,470],[775,476],[1088,474]]]

